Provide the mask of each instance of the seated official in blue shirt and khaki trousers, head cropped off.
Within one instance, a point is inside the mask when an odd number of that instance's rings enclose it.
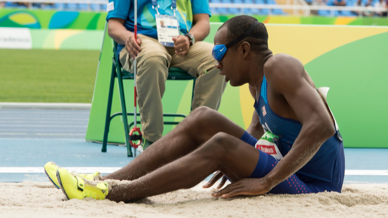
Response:
[[[137,102],[144,149],[162,137],[162,97],[169,67],[180,68],[197,78],[192,109],[219,108],[226,83],[214,68],[211,43],[202,41],[210,31],[207,0],[178,0],[176,5],[172,5],[172,1],[155,0],[153,5],[151,0],[138,0],[136,40],[134,1],[109,1],[108,34],[119,44],[117,50],[123,68],[133,73],[136,58]],[[157,30],[162,23],[170,28]],[[172,34],[177,35],[172,37]]]

